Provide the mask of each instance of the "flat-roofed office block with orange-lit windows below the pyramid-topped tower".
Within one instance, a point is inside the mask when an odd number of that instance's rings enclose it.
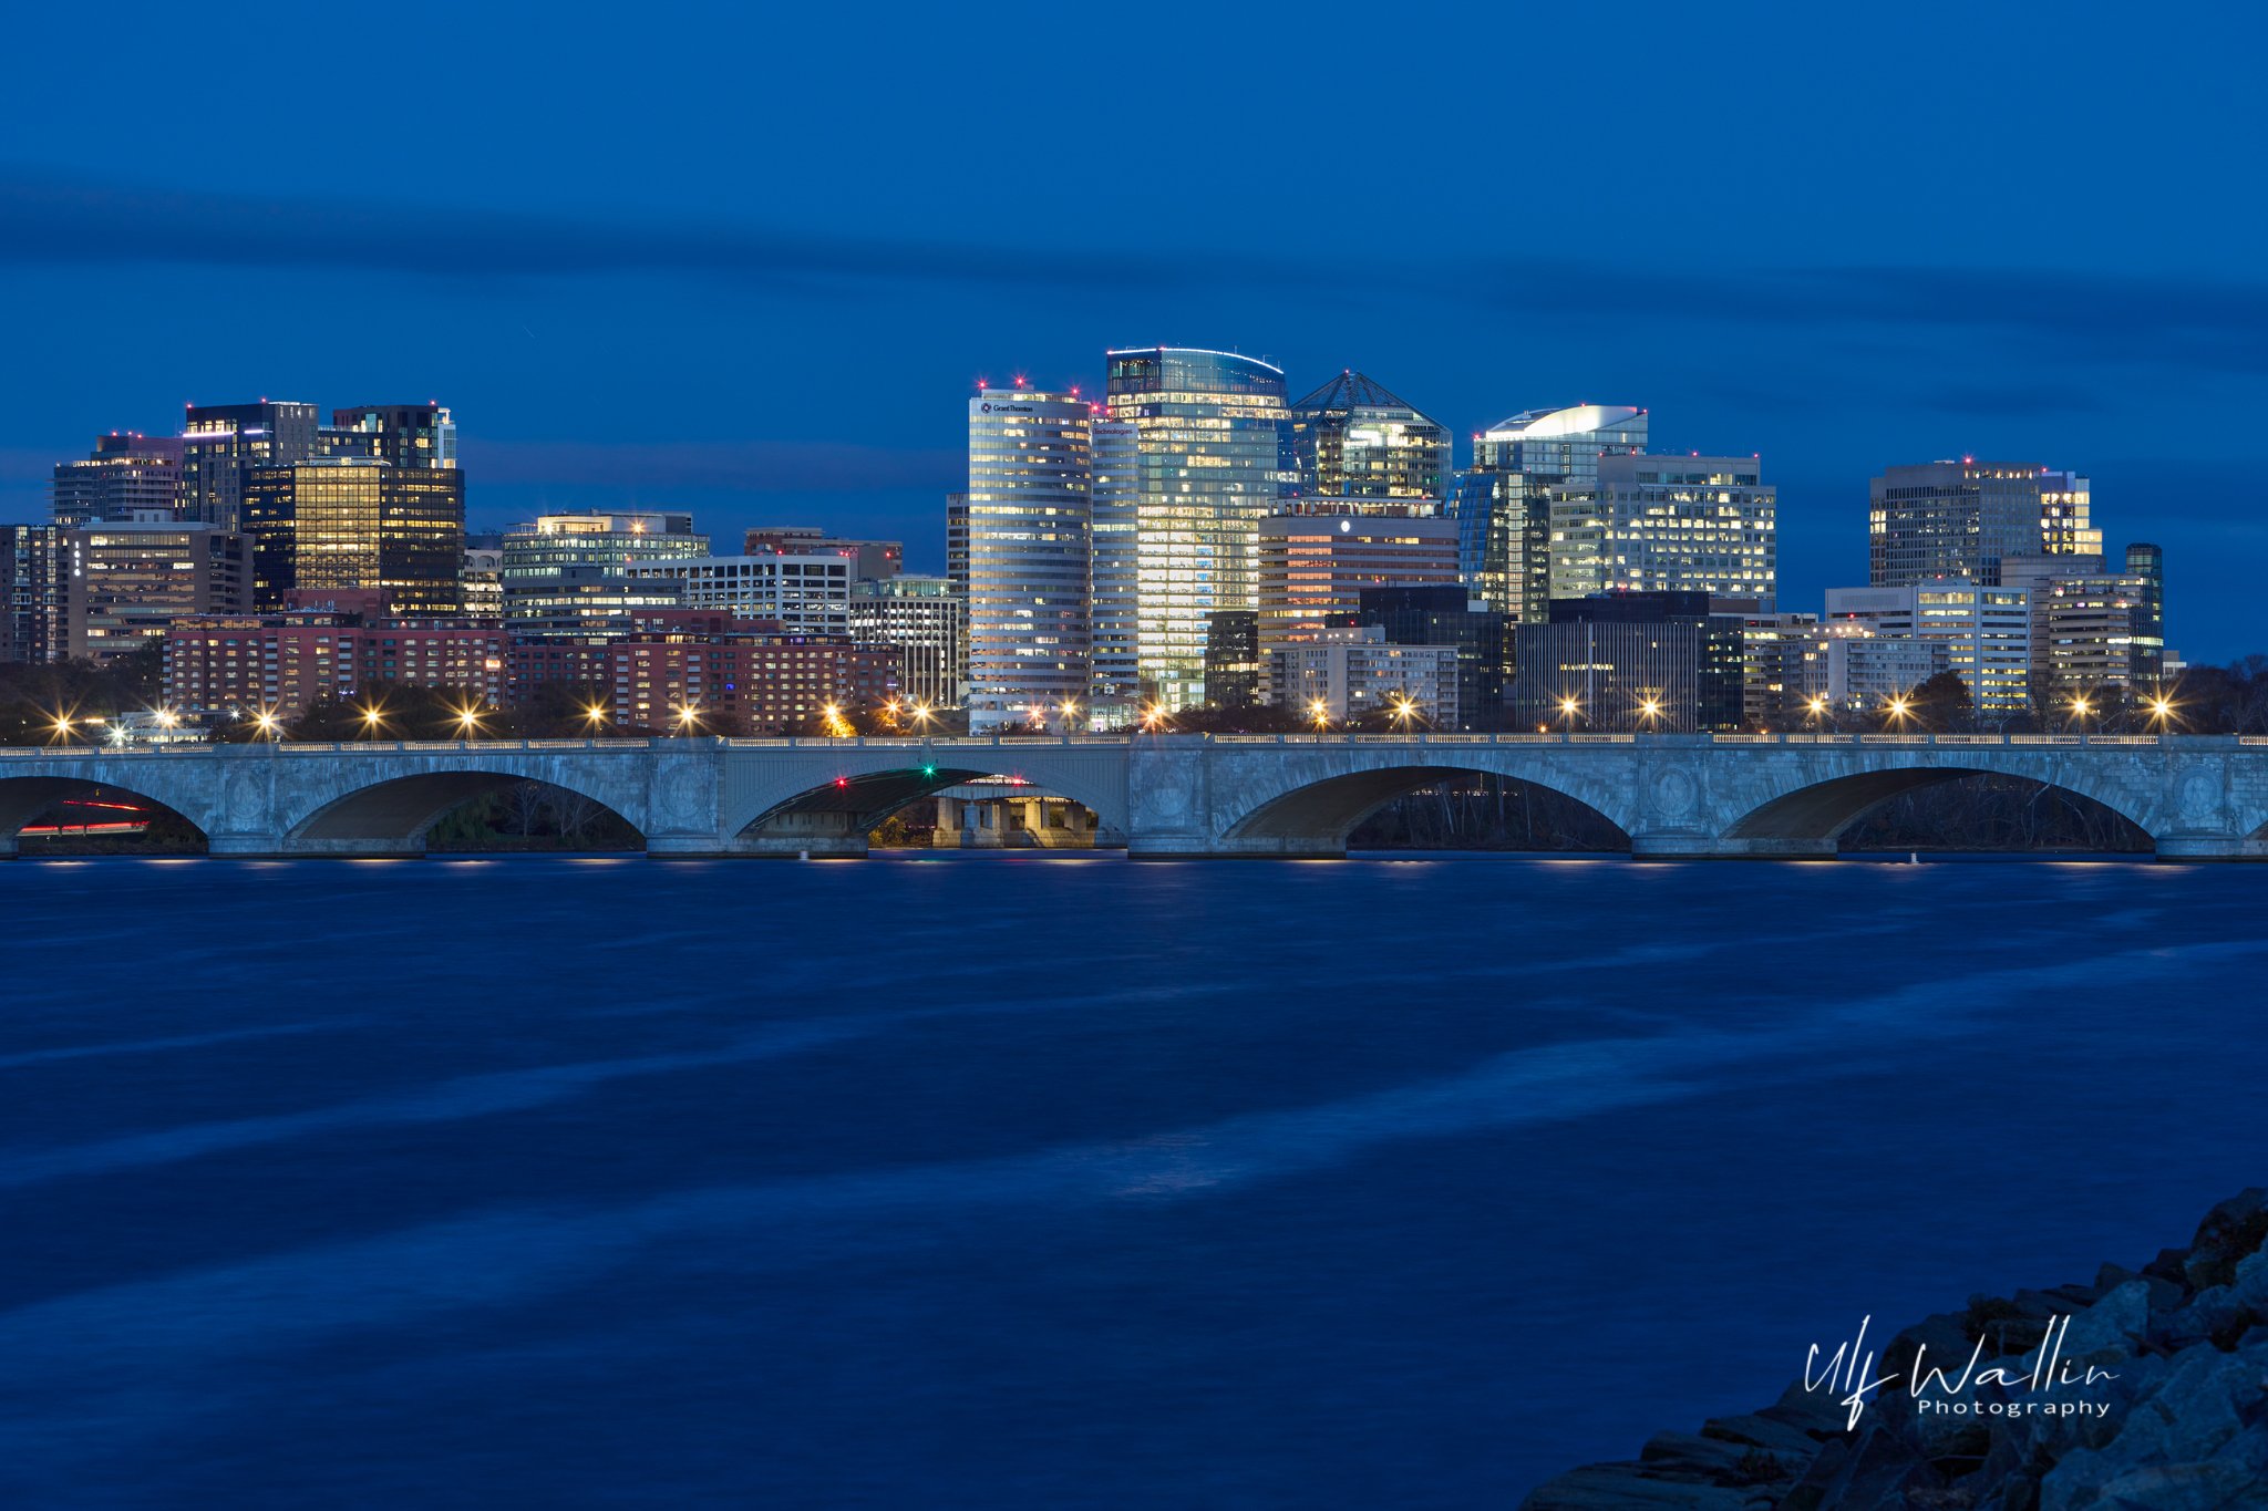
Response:
[[[1424,501],[1393,505],[1429,507]],[[1456,521],[1404,514],[1338,514],[1302,501],[1259,530],[1259,650],[1315,639],[1377,587],[1456,582]]]

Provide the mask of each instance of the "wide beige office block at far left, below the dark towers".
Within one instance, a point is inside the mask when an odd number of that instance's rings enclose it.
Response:
[[[113,521],[64,532],[73,659],[113,661],[166,641],[188,614],[245,614],[245,537],[175,521]]]

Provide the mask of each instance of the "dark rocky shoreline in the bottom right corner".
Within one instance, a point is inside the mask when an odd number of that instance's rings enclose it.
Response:
[[[2189,1248],[2093,1284],[1975,1296],[1848,1375],[1665,1432],[1635,1463],[1538,1486],[1524,1511],[2239,1511],[2268,1506],[2268,1192]],[[1828,1355],[1833,1343],[1821,1350]],[[1876,1350],[1864,1343],[1853,1350]],[[1916,1393],[1916,1355],[1923,1361]],[[1860,1359],[1848,1359],[1857,1366]],[[1966,1368],[1964,1368],[1966,1366]],[[1941,1373],[1939,1373],[1941,1371]],[[2053,1407],[2053,1409],[2050,1409]]]

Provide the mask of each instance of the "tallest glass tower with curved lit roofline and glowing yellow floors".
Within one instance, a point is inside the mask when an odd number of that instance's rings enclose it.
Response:
[[[1204,702],[1207,616],[1259,607],[1259,521],[1290,487],[1284,372],[1188,347],[1107,358],[1109,415],[1134,426],[1139,677],[1184,709]]]

